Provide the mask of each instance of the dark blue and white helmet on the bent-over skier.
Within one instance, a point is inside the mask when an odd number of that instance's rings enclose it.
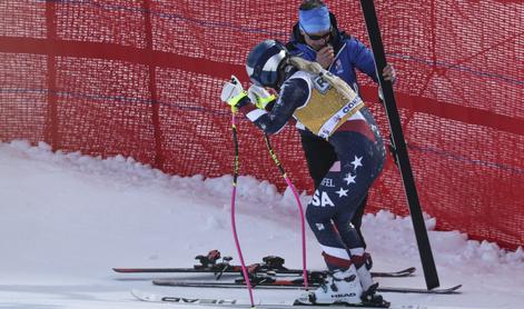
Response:
[[[280,69],[284,59],[288,57],[287,49],[278,41],[265,40],[249,51],[246,70],[253,83],[261,87],[277,88],[280,80]]]

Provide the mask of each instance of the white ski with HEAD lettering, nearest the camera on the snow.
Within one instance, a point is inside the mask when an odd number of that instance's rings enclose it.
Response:
[[[195,297],[182,297],[177,295],[162,295],[157,292],[147,292],[142,290],[134,289],[131,290],[131,295],[141,301],[148,302],[169,302],[169,303],[177,303],[184,306],[209,306],[209,307],[224,307],[224,308],[253,308],[251,303],[247,300],[241,299],[226,299],[226,298],[195,298]],[[362,309],[370,309],[377,308],[377,306],[365,306],[365,305],[348,305],[348,303],[334,303],[334,305],[318,305],[318,303],[301,303],[298,301],[274,301],[274,302],[265,302],[265,301],[256,301],[256,308],[260,309],[277,309],[277,308],[362,308]],[[378,307],[378,308],[386,308],[386,307]],[[454,307],[438,307],[438,306],[423,306],[423,305],[401,305],[395,306],[392,305],[388,307],[389,309],[459,309]]]

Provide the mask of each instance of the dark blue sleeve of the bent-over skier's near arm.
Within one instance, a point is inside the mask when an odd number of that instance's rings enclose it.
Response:
[[[295,110],[305,104],[308,97],[309,87],[305,80],[299,78],[286,80],[273,109],[253,122],[267,134],[274,134],[286,126]]]

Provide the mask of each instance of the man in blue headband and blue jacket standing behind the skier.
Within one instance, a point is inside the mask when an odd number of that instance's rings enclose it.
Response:
[[[340,77],[355,92],[358,93],[355,69],[378,82],[372,51],[357,39],[338,29],[335,16],[329,12],[322,0],[301,2],[298,9],[298,22],[293,27],[290,37],[286,44],[290,54],[318,62],[324,69]],[[394,68],[386,66],[383,77],[385,80],[394,81]],[[316,189],[338,159],[329,142],[300,126],[297,127],[309,176]],[[366,203],[367,195],[363,198],[352,220],[364,249],[366,242],[360,227]]]

